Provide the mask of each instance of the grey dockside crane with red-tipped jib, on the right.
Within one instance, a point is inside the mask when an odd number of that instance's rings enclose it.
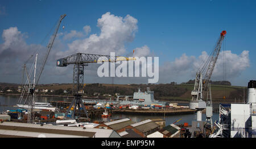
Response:
[[[218,59],[221,44],[225,38],[225,35],[226,31],[222,31],[214,47],[214,50],[209,55],[205,63],[201,65],[201,67],[196,72],[195,85],[191,92],[192,99],[191,102],[189,102],[189,107],[190,109],[197,111],[197,121],[202,121],[202,110],[207,108],[206,102],[203,101],[203,95],[205,93],[205,90],[207,90],[208,88],[208,83],[210,81],[210,77],[212,76],[212,72]]]

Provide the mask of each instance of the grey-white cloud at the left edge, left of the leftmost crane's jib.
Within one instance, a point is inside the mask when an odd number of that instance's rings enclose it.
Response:
[[[25,42],[26,38],[27,34],[20,32],[17,27],[3,30],[3,43],[0,44],[0,77],[2,82],[20,82],[23,64],[37,50],[44,49],[42,45],[28,45]]]

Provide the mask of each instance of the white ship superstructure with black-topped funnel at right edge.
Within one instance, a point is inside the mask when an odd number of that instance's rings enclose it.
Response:
[[[210,137],[256,137],[256,81],[248,82],[246,104],[220,105],[220,118],[215,122],[217,130]]]

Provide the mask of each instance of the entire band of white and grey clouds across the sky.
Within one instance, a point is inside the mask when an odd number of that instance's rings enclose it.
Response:
[[[97,26],[100,33],[90,34],[90,26],[84,26],[82,31],[70,31],[68,33],[60,32],[53,44],[52,51],[48,57],[47,65],[43,72],[42,83],[52,82],[72,82],[73,65],[68,67],[56,67],[56,60],[77,52],[95,53],[109,55],[115,52],[115,55],[133,56],[132,50],[127,50],[125,44],[132,42],[135,33],[138,30],[138,20],[133,16],[126,15],[115,16],[106,13],[97,20]],[[63,35],[63,38],[61,36]],[[46,47],[39,44],[27,44],[27,33],[19,31],[17,27],[10,27],[3,30],[3,43],[0,44],[0,82],[20,82],[22,78],[22,65],[30,55],[38,53],[42,59],[38,64],[43,63],[46,54]],[[73,40],[69,44],[63,43],[63,40]],[[61,40],[63,39],[63,40]],[[67,50],[64,50],[67,49]],[[143,45],[135,48],[135,56],[152,56],[150,47]],[[223,52],[220,52],[212,79],[221,80],[223,77]],[[200,56],[188,56],[185,53],[177,57],[174,61],[166,61],[159,67],[159,83],[171,81],[184,82],[193,79],[201,63],[208,57],[208,53],[203,51]],[[227,78],[236,78],[248,67],[250,67],[249,51],[243,51],[241,54],[225,51],[226,76]],[[85,67],[85,82],[105,82],[111,83],[112,78],[97,77],[98,64],[90,64]],[[141,65],[142,66],[142,65]],[[38,67],[40,68],[40,67]],[[20,70],[19,72],[17,70]],[[38,69],[39,70],[39,69]],[[39,71],[38,71],[39,72]],[[147,83],[147,77],[122,77],[114,78],[114,83]]]

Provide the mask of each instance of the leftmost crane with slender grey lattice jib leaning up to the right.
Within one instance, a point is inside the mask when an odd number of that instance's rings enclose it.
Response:
[[[37,60],[37,57],[38,57],[38,54],[36,54],[36,59],[35,59],[35,64],[33,65],[34,68],[34,83],[33,85],[31,85],[30,83],[30,76],[27,74],[27,69],[26,69],[26,63],[24,64],[24,70],[26,71],[26,75],[27,75],[27,83],[24,85],[23,87],[23,90],[22,90],[22,94],[20,95],[20,98],[19,98],[19,101],[18,101],[18,104],[22,104],[23,102],[23,96],[24,96],[24,93],[28,93],[27,94],[27,97],[28,97],[28,123],[32,123],[34,122],[34,117],[31,115],[32,113],[32,110],[35,106],[34,104],[34,98],[35,98],[35,86],[38,85],[38,82],[40,80],[40,76],[43,72],[43,69],[44,69],[44,65],[46,64],[46,61],[47,61],[47,58],[48,58],[48,55],[49,55],[49,52],[51,51],[52,49],[52,45],[54,43],[54,40],[57,36],[57,32],[59,30],[59,27],[60,27],[60,23],[62,22],[62,20],[65,18],[65,16],[67,16],[66,14],[63,14],[60,16],[59,18],[59,22],[57,23],[57,26],[55,28],[55,32],[53,33],[53,35],[51,36],[51,40],[49,41],[48,45],[47,45],[47,54],[46,54],[46,57],[44,57],[44,63],[43,63],[43,66],[42,68],[40,69],[40,73],[39,73],[39,77],[36,79],[35,81],[35,72],[36,72],[36,60]],[[32,70],[32,69],[31,69]],[[24,72],[25,72],[24,71]],[[26,99],[24,100],[23,102],[23,105],[26,103],[26,100],[27,100],[27,97]]]

